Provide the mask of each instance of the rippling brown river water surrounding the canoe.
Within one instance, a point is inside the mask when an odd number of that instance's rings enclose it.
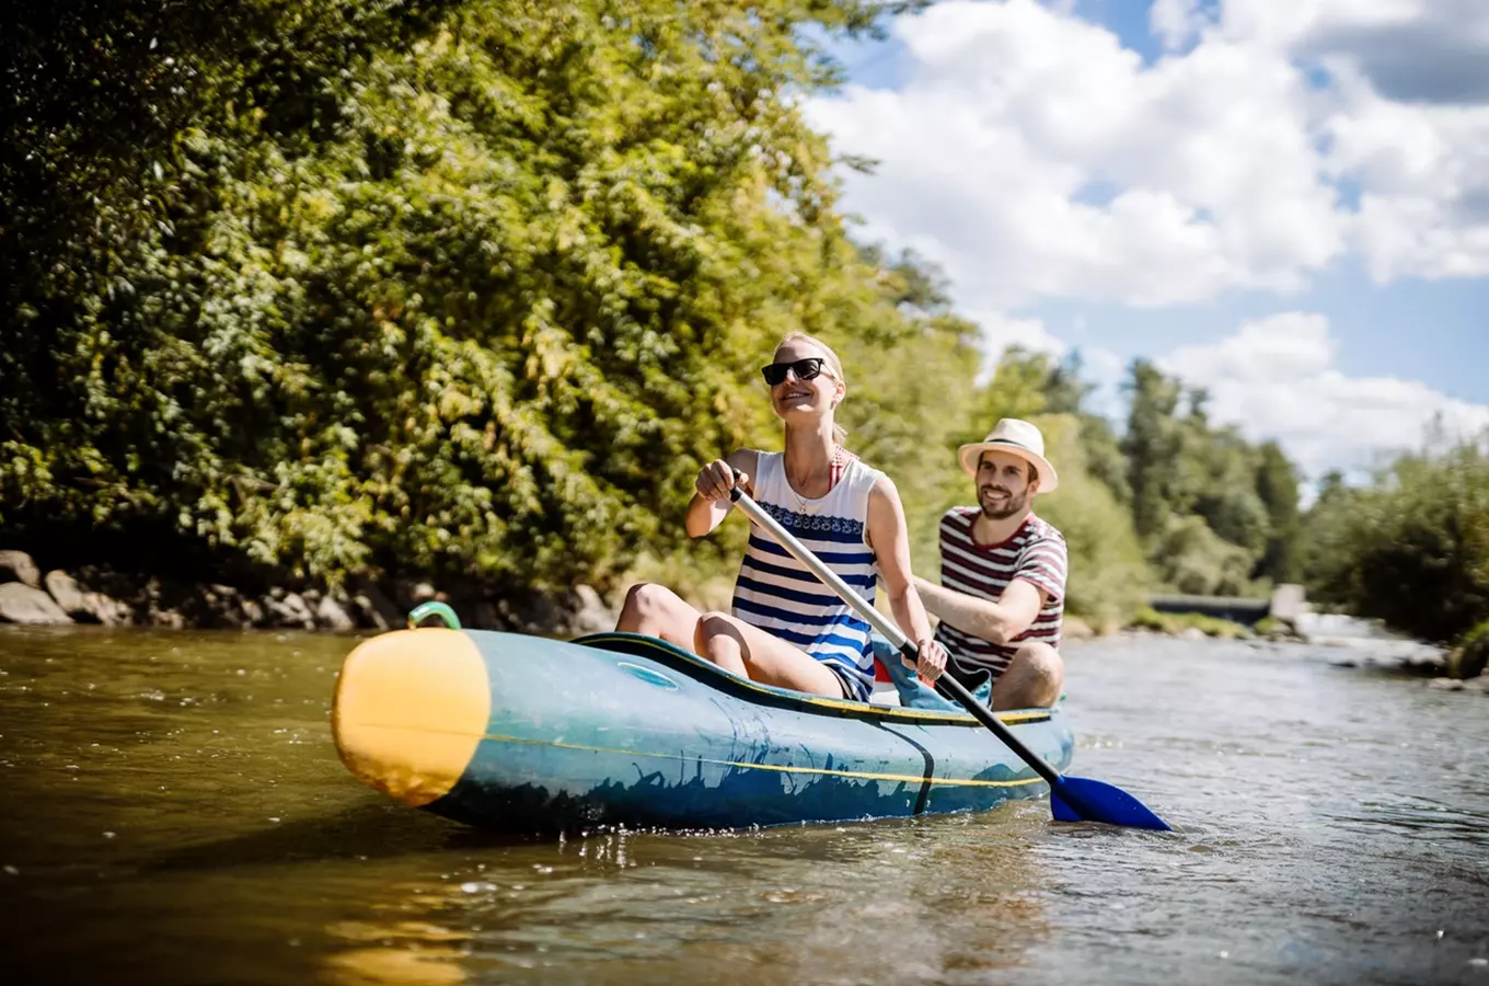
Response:
[[[1483,983],[1489,697],[1368,648],[1068,648],[1074,773],[978,816],[493,837],[328,727],[350,637],[0,629],[0,965],[89,983]]]

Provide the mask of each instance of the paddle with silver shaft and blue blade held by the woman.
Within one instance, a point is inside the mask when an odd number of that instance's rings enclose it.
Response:
[[[739,474],[736,474],[737,477]],[[780,526],[780,523],[761,509],[759,503],[752,500],[749,494],[744,493],[739,486],[730,490],[730,499],[744,514],[768,530],[780,547],[785,548],[797,562],[806,564],[812,572],[828,584],[838,597],[846,602],[853,611],[867,620],[870,626],[879,630],[884,639],[887,639],[907,660],[917,660],[916,646],[899,629],[887,618],[884,614],[874,609],[868,602],[855,593],[847,582],[838,578],[837,572],[825,566],[820,559],[812,554],[806,545],[797,541],[789,530]],[[1050,783],[1050,810],[1053,812],[1056,821],[1060,822],[1106,822],[1108,825],[1127,825],[1132,828],[1155,828],[1158,831],[1172,831],[1161,818],[1154,815],[1148,806],[1127,794],[1121,788],[1103,783],[1100,780],[1091,780],[1090,777],[1072,777],[1069,775],[1059,773],[1051,767],[1039,754],[1033,752],[1023,745],[1013,730],[1004,725],[992,709],[980,703],[972,694],[962,687],[962,682],[951,678],[951,675],[941,675],[937,681],[937,690],[941,694],[954,699],[963,709],[972,713],[972,716],[990,728],[1004,745],[1014,751],[1021,761],[1029,764],[1041,777]]]

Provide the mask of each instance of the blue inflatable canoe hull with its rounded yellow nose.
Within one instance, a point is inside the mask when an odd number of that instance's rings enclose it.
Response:
[[[460,682],[441,681],[439,661],[411,673],[436,642],[469,652]],[[359,661],[374,643],[383,660]],[[402,678],[372,681],[390,667]],[[482,679],[488,706],[479,694],[463,718],[433,712],[469,704]],[[378,685],[398,700],[362,699]],[[395,721],[420,704],[426,719]],[[374,637],[348,655],[332,718],[342,760],[366,783],[481,828],[843,822],[984,810],[1048,791],[969,715],[803,696],[625,633],[567,643],[478,630]],[[1001,718],[1056,769],[1069,764],[1063,712]],[[420,760],[436,740],[450,748],[439,770]]]

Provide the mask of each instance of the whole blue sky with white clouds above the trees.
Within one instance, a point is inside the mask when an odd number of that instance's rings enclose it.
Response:
[[[1306,478],[1489,429],[1489,0],[951,0],[829,42],[856,235],[1008,344],[1135,357]],[[992,423],[989,423],[992,426]]]

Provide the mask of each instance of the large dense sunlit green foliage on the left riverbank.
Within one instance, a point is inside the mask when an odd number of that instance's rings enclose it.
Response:
[[[832,79],[801,27],[880,10],[28,6],[0,521],[326,578],[666,550],[776,338],[959,346],[847,241],[789,98]]]

